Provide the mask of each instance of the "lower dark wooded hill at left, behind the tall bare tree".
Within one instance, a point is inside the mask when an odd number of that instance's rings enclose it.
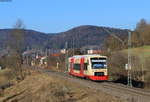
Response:
[[[7,41],[13,29],[0,29],[0,48],[7,46]],[[24,32],[24,46],[25,48],[44,48],[48,45],[47,41],[53,36],[52,34],[46,34],[34,30],[23,30]]]

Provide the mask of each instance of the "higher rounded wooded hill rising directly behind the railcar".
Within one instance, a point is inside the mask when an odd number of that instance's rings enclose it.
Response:
[[[100,47],[103,45],[105,38],[110,35],[105,29],[118,36],[126,36],[128,31],[90,25],[79,26],[54,36],[52,41],[61,48],[64,47],[66,41],[69,43],[69,47],[81,48],[89,45]]]

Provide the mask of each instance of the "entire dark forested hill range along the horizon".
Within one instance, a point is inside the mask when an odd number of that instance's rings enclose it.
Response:
[[[65,42],[67,41],[69,47],[81,48],[89,45],[99,47],[103,45],[105,38],[110,35],[105,29],[121,37],[126,36],[128,31],[126,29],[91,25],[79,26],[66,32],[55,34],[24,30],[24,46],[26,48],[64,48]],[[12,29],[0,29],[0,48],[5,48],[11,31]]]

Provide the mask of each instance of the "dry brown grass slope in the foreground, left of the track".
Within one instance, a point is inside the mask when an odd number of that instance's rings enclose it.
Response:
[[[122,102],[106,93],[38,72],[6,89],[1,99],[8,102]]]

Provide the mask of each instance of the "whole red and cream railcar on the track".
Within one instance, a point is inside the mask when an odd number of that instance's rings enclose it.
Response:
[[[70,57],[68,60],[69,74],[95,81],[108,80],[106,56],[76,55]]]

